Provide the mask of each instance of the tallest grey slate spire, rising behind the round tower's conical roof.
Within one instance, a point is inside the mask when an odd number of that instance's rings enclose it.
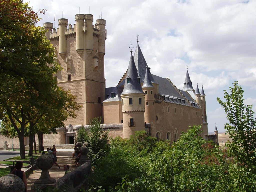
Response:
[[[142,82],[143,82],[145,74],[146,74],[146,67],[148,67],[148,66],[147,66],[147,62],[142,54],[141,48],[138,43],[137,43],[136,50],[134,52],[133,57],[134,57],[134,62],[135,62],[136,68],[138,70],[138,75],[141,77]]]

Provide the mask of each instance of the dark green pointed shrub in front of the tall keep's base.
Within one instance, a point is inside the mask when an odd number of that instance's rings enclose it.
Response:
[[[109,130],[103,130],[101,127],[101,117],[92,118],[88,131],[85,133],[85,139],[88,142],[88,157],[96,161],[105,156],[109,150]]]

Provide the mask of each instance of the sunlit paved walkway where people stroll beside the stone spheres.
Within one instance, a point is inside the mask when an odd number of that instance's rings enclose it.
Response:
[[[70,170],[75,169],[77,166],[75,166],[75,159],[72,158],[72,152],[73,149],[57,149],[57,163],[60,165],[60,169],[58,166],[52,166],[49,169],[49,174],[52,178],[54,178],[56,181],[61,178],[65,172],[63,170],[63,165],[68,164],[70,166]],[[23,170],[23,169],[22,169]],[[37,169],[35,170],[29,177],[27,178],[27,183],[28,183],[28,191],[33,191],[31,190],[31,186],[34,184],[34,182],[39,179],[41,176],[41,170]]]

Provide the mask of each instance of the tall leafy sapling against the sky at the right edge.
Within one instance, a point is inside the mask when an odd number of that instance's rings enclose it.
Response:
[[[226,102],[217,98],[217,101],[224,108],[230,122],[225,124],[232,144],[227,144],[229,152],[238,157],[240,163],[245,163],[251,168],[255,167],[256,150],[256,121],[252,105],[244,105],[243,90],[238,82],[233,83],[234,87],[229,88],[229,92],[224,90]],[[256,171],[256,170],[254,170]]]

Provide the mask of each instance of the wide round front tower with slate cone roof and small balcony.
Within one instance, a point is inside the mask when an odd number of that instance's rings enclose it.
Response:
[[[132,52],[132,51],[131,51]],[[145,129],[145,93],[141,88],[140,77],[131,54],[127,69],[122,99],[123,138],[130,138],[135,131]]]

